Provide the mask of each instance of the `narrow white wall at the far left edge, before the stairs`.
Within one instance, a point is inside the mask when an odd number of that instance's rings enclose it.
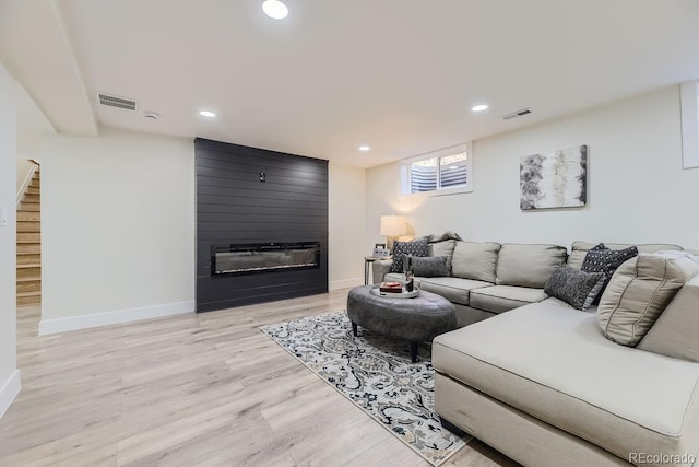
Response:
[[[14,80],[0,63],[0,417],[20,390],[16,366],[16,106]]]

